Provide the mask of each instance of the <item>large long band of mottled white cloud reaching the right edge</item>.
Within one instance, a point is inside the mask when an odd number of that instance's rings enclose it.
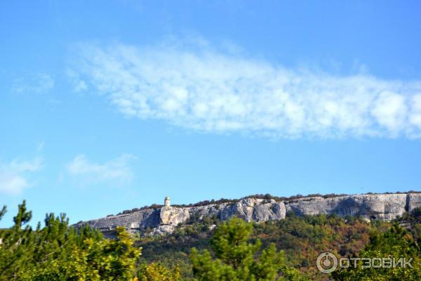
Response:
[[[421,137],[421,81],[289,69],[208,44],[79,50],[77,88],[128,117],[271,138]]]

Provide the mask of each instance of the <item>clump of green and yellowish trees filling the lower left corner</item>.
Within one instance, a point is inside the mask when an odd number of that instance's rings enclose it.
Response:
[[[70,227],[65,214],[48,214],[44,228],[38,224],[36,230],[25,226],[31,217],[24,201],[14,226],[0,232],[1,281],[134,280],[140,249],[125,229],[117,228],[116,238],[106,240],[88,226]]]

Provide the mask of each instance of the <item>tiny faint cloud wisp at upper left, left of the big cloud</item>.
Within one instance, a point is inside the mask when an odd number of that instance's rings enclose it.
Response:
[[[54,88],[53,77],[46,73],[36,73],[30,77],[13,80],[12,93],[46,93]]]

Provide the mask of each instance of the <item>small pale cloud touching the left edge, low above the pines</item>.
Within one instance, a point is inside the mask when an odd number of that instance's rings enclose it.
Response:
[[[18,195],[32,185],[32,174],[42,169],[40,158],[32,160],[14,159],[0,164],[0,192]]]

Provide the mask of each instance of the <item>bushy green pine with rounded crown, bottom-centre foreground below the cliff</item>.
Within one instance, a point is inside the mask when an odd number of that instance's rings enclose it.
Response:
[[[306,280],[298,270],[286,266],[283,252],[274,244],[260,252],[261,242],[249,242],[251,223],[232,218],[215,230],[210,251],[192,249],[194,280],[272,281]]]

